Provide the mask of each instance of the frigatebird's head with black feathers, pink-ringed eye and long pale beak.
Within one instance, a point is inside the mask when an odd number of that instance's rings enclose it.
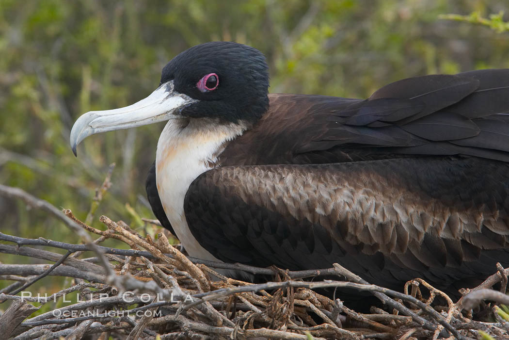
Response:
[[[74,123],[70,144],[86,137],[171,119],[215,118],[225,123],[254,123],[269,105],[265,56],[234,42],[193,46],[172,59],[159,87],[132,105],[89,111]]]

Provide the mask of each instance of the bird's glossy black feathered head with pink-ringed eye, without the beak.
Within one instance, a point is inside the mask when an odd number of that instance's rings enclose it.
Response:
[[[256,122],[267,111],[268,66],[256,48],[216,41],[193,46],[162,69],[161,84],[199,101],[181,110],[190,118]]]

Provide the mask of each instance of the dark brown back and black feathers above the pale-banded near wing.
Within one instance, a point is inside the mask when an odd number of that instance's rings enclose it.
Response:
[[[221,165],[468,155],[509,161],[509,70],[403,79],[369,99],[271,95]]]

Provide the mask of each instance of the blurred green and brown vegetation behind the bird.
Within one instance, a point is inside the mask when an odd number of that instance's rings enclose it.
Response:
[[[508,68],[507,33],[440,18],[507,9],[483,0],[0,0],[0,183],[84,219],[116,162],[93,225],[103,229],[97,219],[105,214],[143,228],[139,217],[153,218],[145,176],[164,124],[94,135],[78,158],[69,132],[86,111],[150,94],[179,52],[233,40],[267,55],[272,93],[367,97],[405,77]],[[79,242],[54,218],[2,196],[0,231]]]

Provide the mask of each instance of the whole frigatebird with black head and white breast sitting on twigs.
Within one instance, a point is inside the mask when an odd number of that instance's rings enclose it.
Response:
[[[403,79],[365,100],[268,87],[259,50],[197,45],[147,98],[82,115],[71,147],[167,121],[147,194],[193,257],[339,263],[394,289],[509,265],[508,69]]]

